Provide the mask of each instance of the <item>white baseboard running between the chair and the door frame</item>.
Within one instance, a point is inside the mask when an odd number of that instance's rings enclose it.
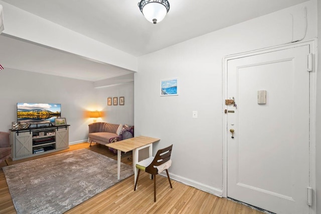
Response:
[[[197,182],[195,180],[191,180],[191,179],[188,179],[188,178],[185,178],[185,177],[173,174],[173,173],[169,173],[169,174],[170,174],[170,178],[172,180],[176,180],[177,182],[183,183],[183,184],[188,185],[188,186],[193,186],[193,187],[195,187],[197,189],[200,189],[202,191],[211,193],[211,194],[216,195],[218,197],[223,197],[223,190],[222,189],[218,189],[218,188],[215,188],[213,186],[209,186],[209,185],[206,185],[204,183],[200,183],[200,182]],[[165,171],[163,171],[160,175],[162,175],[164,177],[167,177]]]

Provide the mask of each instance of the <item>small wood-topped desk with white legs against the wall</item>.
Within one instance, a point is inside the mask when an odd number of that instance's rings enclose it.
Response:
[[[148,147],[149,157],[152,156],[152,144],[159,141],[157,138],[150,138],[145,136],[139,136],[134,138],[129,138],[123,141],[118,141],[115,143],[106,144],[106,146],[117,149],[117,178],[120,178],[120,158],[121,152],[132,151],[132,168],[134,170],[134,184],[137,177],[136,163],[138,162],[138,151]]]

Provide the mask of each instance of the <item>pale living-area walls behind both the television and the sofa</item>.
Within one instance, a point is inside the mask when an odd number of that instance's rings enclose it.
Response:
[[[125,105],[108,108],[109,95],[125,96]],[[88,124],[93,122],[89,111],[102,111],[101,121],[133,124],[133,83],[95,89],[91,81],[6,68],[0,71],[0,102],[1,131],[17,121],[17,102],[61,103],[62,117],[71,125],[70,144],[87,140]]]

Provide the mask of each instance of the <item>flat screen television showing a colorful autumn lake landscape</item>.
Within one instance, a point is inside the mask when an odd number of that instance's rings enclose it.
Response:
[[[17,121],[20,123],[54,123],[58,117],[61,117],[61,104],[17,103]]]

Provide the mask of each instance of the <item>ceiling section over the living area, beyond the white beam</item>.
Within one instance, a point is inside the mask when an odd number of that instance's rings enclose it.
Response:
[[[133,73],[114,65],[92,61],[4,35],[0,35],[0,47],[0,61],[5,68],[88,81],[99,81]]]

